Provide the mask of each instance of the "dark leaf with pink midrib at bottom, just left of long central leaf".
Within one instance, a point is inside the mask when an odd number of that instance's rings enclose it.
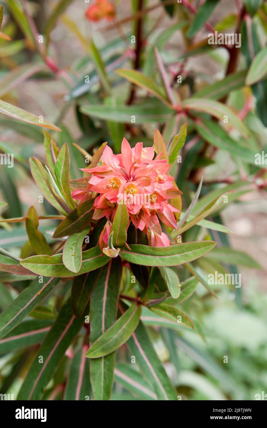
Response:
[[[90,395],[89,360],[85,356],[87,349],[88,346],[83,345],[71,361],[64,400],[84,401]]]

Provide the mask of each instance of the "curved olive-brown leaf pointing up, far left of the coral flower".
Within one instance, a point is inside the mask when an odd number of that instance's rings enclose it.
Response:
[[[42,232],[38,230],[39,219],[36,209],[33,205],[28,209],[25,226],[30,244],[36,254],[47,254],[48,256],[51,256],[51,248],[47,244],[47,241]]]

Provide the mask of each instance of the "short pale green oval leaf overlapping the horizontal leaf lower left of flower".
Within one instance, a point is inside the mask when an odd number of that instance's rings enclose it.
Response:
[[[91,226],[81,232],[70,235],[63,247],[62,260],[64,265],[71,272],[79,272],[82,265],[83,240],[91,230]]]

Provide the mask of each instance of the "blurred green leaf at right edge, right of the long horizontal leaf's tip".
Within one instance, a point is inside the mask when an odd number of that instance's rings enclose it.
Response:
[[[229,265],[241,265],[252,269],[262,269],[261,265],[251,256],[243,253],[243,251],[234,250],[233,248],[214,248],[208,257],[209,259],[220,260],[221,263],[228,263]]]

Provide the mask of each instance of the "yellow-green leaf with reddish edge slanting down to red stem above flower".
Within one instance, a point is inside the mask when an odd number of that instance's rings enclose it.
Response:
[[[152,95],[155,95],[155,97],[163,101],[164,104],[171,107],[166,92],[163,91],[161,87],[158,86],[150,77],[145,76],[145,74],[140,73],[140,71],[132,70],[131,68],[119,68],[116,70],[116,73],[140,88],[150,92]]]

